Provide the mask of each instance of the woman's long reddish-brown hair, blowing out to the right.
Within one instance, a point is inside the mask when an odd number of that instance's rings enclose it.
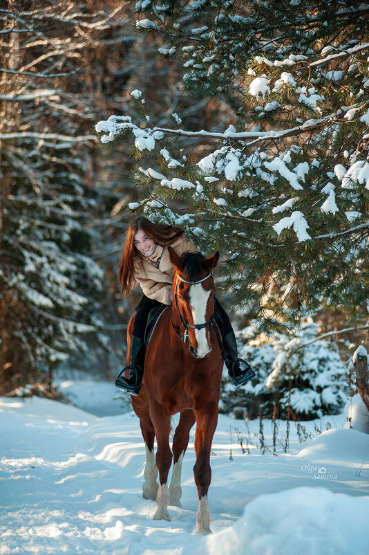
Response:
[[[168,246],[184,235],[180,226],[168,224],[154,224],[147,218],[131,219],[126,233],[126,241],[120,262],[118,264],[118,283],[122,286],[122,293],[128,295],[135,286],[135,260],[141,260],[140,251],[135,248],[135,234],[142,230],[146,237],[153,239],[160,246]]]

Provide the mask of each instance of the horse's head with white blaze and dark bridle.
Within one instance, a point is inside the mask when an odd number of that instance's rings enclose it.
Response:
[[[215,286],[211,271],[219,253],[205,258],[200,253],[183,253],[169,247],[169,259],[176,269],[173,280],[173,310],[178,312],[181,338],[189,337],[191,352],[202,358],[211,351],[210,327],[214,316]],[[176,332],[177,333],[177,332]]]

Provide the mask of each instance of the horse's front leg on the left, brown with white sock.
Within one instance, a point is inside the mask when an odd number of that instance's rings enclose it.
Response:
[[[153,401],[150,407],[151,418],[155,428],[156,442],[158,448],[156,450],[156,466],[159,471],[159,489],[156,501],[158,508],[154,516],[154,520],[171,520],[168,513],[169,505],[169,489],[168,474],[171,467],[172,454],[169,447],[169,433],[171,431],[171,417],[167,409]]]

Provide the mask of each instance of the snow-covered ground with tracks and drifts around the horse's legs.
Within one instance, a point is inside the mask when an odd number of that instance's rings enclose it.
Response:
[[[313,437],[304,443],[292,424],[289,453],[281,422],[277,455],[270,421],[262,454],[258,421],[247,430],[220,416],[206,537],[195,534],[193,430],[182,509],[169,507],[167,522],[152,520],[155,503],[142,498],[144,444],[133,412],[97,417],[3,397],[0,423],[1,555],[369,554],[369,435],[343,428],[343,415],[304,423]]]

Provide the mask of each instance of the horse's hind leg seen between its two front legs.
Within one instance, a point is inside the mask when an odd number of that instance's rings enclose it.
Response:
[[[191,430],[195,421],[195,413],[191,408],[181,412],[180,421],[178,422],[176,433],[173,437],[173,472],[171,476],[171,485],[169,486],[169,504],[175,507],[182,507],[180,504],[180,498],[182,496],[182,488],[180,486],[182,460],[189,444],[189,430]]]

